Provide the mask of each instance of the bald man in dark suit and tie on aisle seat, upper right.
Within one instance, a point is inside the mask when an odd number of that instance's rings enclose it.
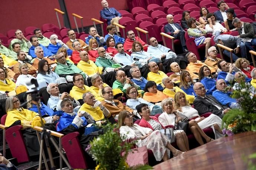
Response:
[[[188,52],[187,47],[186,47],[186,41],[185,41],[185,31],[183,28],[181,28],[180,24],[173,23],[173,15],[168,14],[166,16],[166,19],[168,21],[168,24],[164,26],[164,32],[166,34],[169,34],[173,36],[175,39],[174,40],[180,40],[181,45],[183,48],[183,52]]]

